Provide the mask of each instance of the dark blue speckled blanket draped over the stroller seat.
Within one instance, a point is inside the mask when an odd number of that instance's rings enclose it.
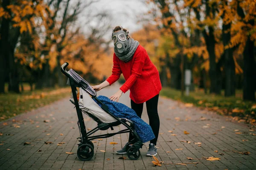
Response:
[[[139,135],[142,143],[145,143],[155,138],[151,127],[145,121],[143,121],[139,116],[137,116],[136,112],[133,109],[131,109],[130,107],[127,107],[125,104],[111,101],[106,96],[100,95],[97,98],[103,104],[107,105],[109,112],[111,112],[116,117],[127,118],[133,121],[135,125],[135,131]],[[95,99],[93,100],[96,101]],[[96,101],[96,103],[101,107],[101,104],[98,101]]]

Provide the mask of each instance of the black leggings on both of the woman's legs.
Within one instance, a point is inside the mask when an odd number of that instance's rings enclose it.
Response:
[[[148,119],[149,119],[149,125],[151,126],[153,133],[156,138],[152,139],[150,143],[157,145],[157,138],[159,133],[159,127],[160,127],[160,121],[159,116],[157,112],[157,104],[158,104],[158,98],[159,94],[154,96],[153,98],[146,101],[146,107],[148,112]],[[143,111],[143,103],[136,104],[134,101],[131,100],[131,108],[134,109],[136,114],[141,118],[142,111]],[[134,139],[133,135],[130,133],[129,135],[129,141]]]

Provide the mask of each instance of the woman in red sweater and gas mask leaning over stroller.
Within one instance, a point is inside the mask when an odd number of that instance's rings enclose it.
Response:
[[[141,118],[143,103],[146,102],[149,125],[151,126],[156,138],[150,141],[146,156],[156,156],[157,138],[159,133],[160,121],[157,112],[159,92],[162,89],[159,72],[151,62],[146,50],[139,42],[128,35],[128,31],[120,26],[116,26],[112,32],[114,43],[113,69],[112,75],[102,84],[93,86],[99,91],[106,86],[116,82],[121,73],[124,75],[125,84],[111,96],[112,101],[117,101],[122,93],[130,90],[131,108]],[[133,136],[129,135],[129,142],[133,142]],[[126,145],[117,154],[125,154]]]

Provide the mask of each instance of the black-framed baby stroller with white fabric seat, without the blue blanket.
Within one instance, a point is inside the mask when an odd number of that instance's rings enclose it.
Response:
[[[78,116],[78,127],[79,127],[79,133],[80,133],[80,140],[78,144],[77,149],[77,156],[82,161],[89,161],[94,154],[94,145],[91,140],[96,138],[108,138],[116,134],[121,133],[131,133],[134,136],[134,141],[131,141],[127,147],[125,148],[127,152],[128,158],[131,160],[137,160],[140,157],[140,148],[142,148],[143,143],[140,140],[139,135],[134,130],[134,123],[131,120],[125,119],[125,118],[117,118],[115,115],[111,114],[108,110],[108,106],[103,104],[97,97],[96,97],[96,91],[90,86],[87,81],[85,81],[83,78],[81,78],[80,75],[78,75],[73,69],[70,69],[69,71],[66,71],[66,68],[68,66],[68,63],[64,63],[61,66],[61,72],[67,76],[68,81],[67,84],[71,86],[73,99],[70,99],[70,101],[75,105],[76,112]],[[80,88],[80,94],[79,94],[79,101],[76,94],[76,87]],[[82,92],[82,93],[81,93]],[[86,106],[81,106],[81,100],[86,100]],[[95,101],[98,101],[100,104],[102,104],[102,107],[100,107],[98,104],[96,104]],[[90,130],[89,132],[86,132],[85,125],[84,125],[84,118],[82,115],[82,112],[87,114],[90,118],[92,118],[94,121],[98,123],[98,126],[94,129]],[[127,122],[130,123],[130,125],[127,124]],[[113,130],[113,127],[118,126],[120,124],[123,124],[127,129],[120,130],[117,133],[107,133],[102,135],[94,135],[93,133],[96,133],[98,130],[108,130],[111,128]],[[77,139],[79,139],[77,138]]]

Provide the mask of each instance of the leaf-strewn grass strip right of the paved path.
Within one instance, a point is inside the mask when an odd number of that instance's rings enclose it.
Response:
[[[195,89],[194,92],[189,93],[189,96],[181,96],[179,90],[163,88],[160,95],[182,101],[186,103],[187,107],[194,105],[218,112],[236,121],[256,125],[256,101],[243,101],[240,90],[237,90],[236,96],[232,97],[224,97],[223,92],[222,95],[205,94],[201,89]]]

